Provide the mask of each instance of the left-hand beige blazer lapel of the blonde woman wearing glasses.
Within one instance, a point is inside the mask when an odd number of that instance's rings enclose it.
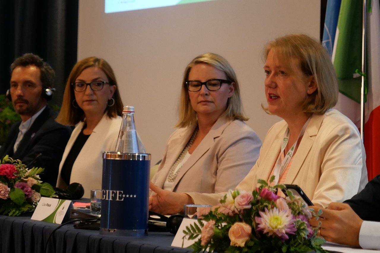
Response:
[[[176,162],[177,158],[181,154],[181,152],[184,150],[186,144],[190,140],[194,129],[196,125],[192,125],[190,127],[187,127],[185,129],[181,129],[178,133],[178,135],[173,138],[169,143],[168,143],[168,149],[166,151],[166,157],[165,157],[165,164],[173,164]],[[157,178],[156,185],[158,187],[163,187],[165,180],[168,176],[169,170],[171,166],[166,166],[165,170],[162,171],[160,178]]]

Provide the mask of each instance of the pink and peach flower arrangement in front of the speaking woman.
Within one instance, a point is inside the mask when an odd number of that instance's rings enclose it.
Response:
[[[274,180],[271,177],[269,182]],[[285,185],[260,186],[252,193],[230,190],[203,220],[187,226],[184,239],[200,238],[192,245],[195,252],[326,252],[324,239],[311,228],[312,217],[301,198],[287,190],[287,197],[277,196]],[[311,210],[313,212],[313,210]],[[314,214],[317,216],[320,214]]]

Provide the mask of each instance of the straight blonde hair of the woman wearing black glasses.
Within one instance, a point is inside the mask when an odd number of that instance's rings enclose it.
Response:
[[[176,127],[187,127],[196,122],[196,112],[193,110],[193,107],[190,103],[190,97],[186,87],[186,82],[188,81],[188,75],[190,70],[196,64],[207,63],[213,66],[214,68],[223,71],[226,74],[226,79],[228,81],[234,82],[234,93],[232,97],[229,97],[227,100],[227,108],[222,116],[225,116],[228,119],[239,119],[239,120],[248,120],[243,114],[243,105],[240,98],[240,89],[239,83],[237,82],[236,74],[230,63],[220,55],[216,53],[204,53],[195,57],[186,67],[184,73],[184,79],[182,80],[182,89],[180,97],[180,106],[179,106],[179,121],[176,124]]]

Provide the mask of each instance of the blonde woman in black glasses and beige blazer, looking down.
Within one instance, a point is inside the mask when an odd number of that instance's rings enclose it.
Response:
[[[171,192],[234,189],[255,164],[261,141],[244,121],[239,85],[228,61],[205,53],[186,67],[179,127],[152,182]]]

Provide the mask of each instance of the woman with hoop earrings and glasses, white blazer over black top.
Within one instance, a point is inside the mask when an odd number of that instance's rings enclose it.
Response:
[[[78,182],[84,197],[101,189],[102,152],[115,150],[123,103],[111,66],[98,57],[75,64],[68,77],[56,121],[75,129],[63,152],[57,187]],[[144,145],[139,140],[144,152]]]

